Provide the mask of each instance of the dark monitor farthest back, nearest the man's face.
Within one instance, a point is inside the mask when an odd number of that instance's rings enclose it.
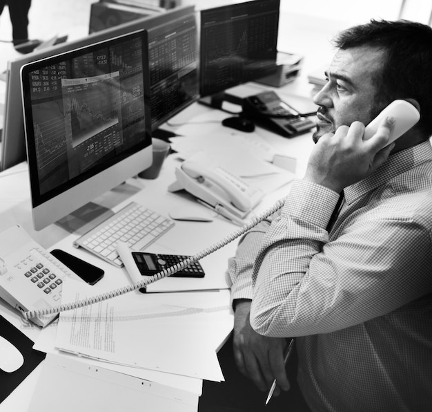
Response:
[[[275,71],[279,0],[255,0],[202,10],[200,94]]]

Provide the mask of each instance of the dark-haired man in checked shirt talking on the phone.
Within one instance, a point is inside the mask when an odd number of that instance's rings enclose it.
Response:
[[[235,362],[262,391],[274,378],[287,391],[283,351],[295,337],[297,380],[312,411],[426,411],[432,29],[371,21],[335,45],[314,98],[317,144],[306,176],[230,261]],[[418,124],[388,147],[391,118],[362,140],[364,124],[395,99],[418,107]]]

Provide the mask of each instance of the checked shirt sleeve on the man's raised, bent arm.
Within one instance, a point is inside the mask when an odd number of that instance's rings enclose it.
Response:
[[[295,182],[262,239],[251,306],[251,325],[262,335],[333,332],[431,291],[430,228],[374,214],[347,223],[329,242],[336,202],[329,189]]]

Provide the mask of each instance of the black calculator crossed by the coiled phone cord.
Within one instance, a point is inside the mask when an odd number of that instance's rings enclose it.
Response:
[[[161,270],[190,258],[181,254],[154,254],[147,252],[132,252],[132,257],[143,276],[151,276]],[[199,262],[191,263],[186,268],[170,275],[170,277],[204,277],[204,270]]]

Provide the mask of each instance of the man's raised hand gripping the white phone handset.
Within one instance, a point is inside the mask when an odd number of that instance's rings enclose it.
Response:
[[[363,140],[361,122],[322,135],[311,153],[304,179],[337,193],[360,182],[389,158],[394,143],[387,147],[386,144],[393,125],[394,119],[387,118],[369,140]]]

